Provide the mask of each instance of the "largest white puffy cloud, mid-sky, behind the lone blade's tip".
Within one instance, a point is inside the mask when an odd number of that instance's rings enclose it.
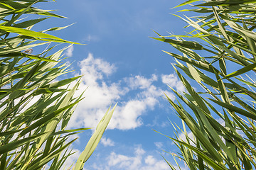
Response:
[[[119,102],[110,120],[108,129],[129,130],[143,125],[142,115],[152,111],[159,103],[164,91],[155,86],[159,77],[152,74],[149,78],[134,75],[124,77],[117,82],[105,81],[117,67],[100,58],[89,54],[78,66],[82,81],[77,94],[85,91],[85,99],[80,101],[70,120],[69,128],[95,127],[103,117],[107,108]],[[162,75],[164,83],[170,83],[176,89],[181,89],[180,82],[174,75]],[[173,80],[173,81],[172,81]],[[181,89],[182,90],[182,89]],[[172,99],[173,95],[169,94]],[[126,98],[129,98],[126,100]]]

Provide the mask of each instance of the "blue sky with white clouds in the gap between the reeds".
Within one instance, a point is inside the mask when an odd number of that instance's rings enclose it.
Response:
[[[107,108],[118,102],[110,125],[85,169],[168,169],[161,154],[174,163],[167,152],[178,152],[167,137],[174,137],[171,122],[181,125],[164,93],[174,100],[167,84],[184,91],[171,62],[161,50],[176,52],[170,45],[153,40],[156,33],[181,35],[186,25],[170,13],[181,1],[75,0],[41,4],[57,9],[68,19],[50,18],[37,29],[73,26],[57,35],[65,40],[85,43],[66,52],[73,75],[83,74],[81,91],[85,99],[78,105],[68,128],[95,127]],[[38,6],[39,7],[39,6]],[[169,32],[169,33],[168,33]],[[77,151],[71,164],[85,148],[92,131],[79,135],[73,145]],[[181,165],[182,166],[182,165]]]

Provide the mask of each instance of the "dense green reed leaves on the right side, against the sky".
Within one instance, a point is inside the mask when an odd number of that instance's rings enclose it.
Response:
[[[175,58],[174,69],[186,87],[183,94],[172,89],[176,101],[166,96],[186,136],[181,139],[176,130],[176,137],[169,137],[181,151],[174,156],[189,169],[256,169],[256,1],[186,1],[180,6],[193,2],[182,10],[200,13],[182,18],[193,28],[190,33],[155,38],[182,54],[166,52]]]

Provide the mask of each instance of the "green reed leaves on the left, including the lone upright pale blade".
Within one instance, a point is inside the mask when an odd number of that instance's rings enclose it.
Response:
[[[70,72],[61,63],[66,48],[53,52],[56,45],[49,45],[78,43],[47,34],[65,27],[31,30],[46,18],[29,20],[23,14],[64,18],[50,13],[51,10],[34,8],[38,2],[43,1],[0,2],[0,169],[43,169],[50,161],[50,169],[63,169],[73,154],[68,147],[76,140],[68,137],[89,129],[65,129],[83,98],[82,94],[74,96],[81,77],[59,80]],[[33,49],[45,45],[45,50],[32,55]],[[100,142],[113,111],[102,118],[73,169],[82,169]]]

